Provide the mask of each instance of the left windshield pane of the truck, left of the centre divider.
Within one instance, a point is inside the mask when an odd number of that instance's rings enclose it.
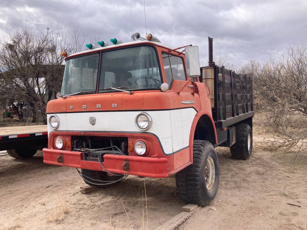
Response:
[[[67,60],[61,95],[95,90],[98,60],[98,53]]]

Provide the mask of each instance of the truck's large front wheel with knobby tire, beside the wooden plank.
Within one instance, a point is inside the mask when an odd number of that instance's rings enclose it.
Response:
[[[176,173],[179,197],[186,204],[206,206],[216,196],[219,181],[219,160],[212,144],[194,140],[193,163]]]

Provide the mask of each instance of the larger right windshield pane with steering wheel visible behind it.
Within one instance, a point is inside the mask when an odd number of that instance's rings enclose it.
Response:
[[[158,89],[161,86],[157,55],[154,48],[140,46],[103,52],[99,92]]]

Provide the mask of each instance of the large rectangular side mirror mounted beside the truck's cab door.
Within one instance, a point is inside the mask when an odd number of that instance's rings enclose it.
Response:
[[[198,46],[185,47],[185,65],[188,77],[200,76]]]

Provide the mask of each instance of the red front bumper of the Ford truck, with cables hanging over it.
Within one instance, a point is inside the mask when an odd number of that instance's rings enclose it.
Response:
[[[82,152],[44,148],[43,155],[46,164],[104,171],[99,162],[83,160]],[[60,155],[63,155],[63,163],[57,161]],[[169,175],[166,158],[106,154],[103,159],[103,167],[112,173],[154,178],[163,178]],[[123,167],[125,161],[128,162],[129,167]],[[125,166],[127,166],[127,163],[125,163]]]

